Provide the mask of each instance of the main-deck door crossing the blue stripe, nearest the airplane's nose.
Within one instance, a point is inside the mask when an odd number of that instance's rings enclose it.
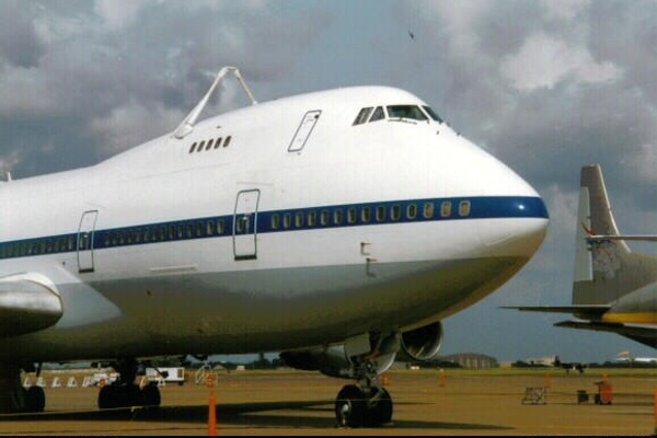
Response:
[[[260,191],[238,193],[233,216],[233,252],[237,261],[257,258],[257,203]]]

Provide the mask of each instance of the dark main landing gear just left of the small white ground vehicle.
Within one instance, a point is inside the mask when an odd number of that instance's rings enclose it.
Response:
[[[112,364],[112,368],[119,373],[119,378],[101,388],[99,408],[160,405],[160,389],[155,382],[149,382],[143,388],[139,388],[135,383],[137,367],[137,360],[134,358]]]

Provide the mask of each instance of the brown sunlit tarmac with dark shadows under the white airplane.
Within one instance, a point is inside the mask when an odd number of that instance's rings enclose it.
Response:
[[[107,411],[96,407],[97,387],[67,388],[60,376],[61,388],[45,387],[45,412],[0,415],[0,435],[650,436],[656,427],[657,369],[390,371],[393,418],[373,428],[338,427],[335,396],[350,382],[319,372],[221,371],[215,387],[160,387],[159,408]]]

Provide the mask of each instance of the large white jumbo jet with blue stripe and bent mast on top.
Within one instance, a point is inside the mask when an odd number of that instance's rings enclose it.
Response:
[[[197,123],[224,74],[253,105]],[[80,153],[83,153],[82,151]],[[234,67],[170,134],[96,165],[0,183],[0,407],[21,370],[111,361],[99,407],[158,405],[163,355],[283,351],[355,379],[342,424],[381,424],[377,376],[433,357],[441,320],[514,276],[549,223],[537,192],[405,91],[256,103]]]

